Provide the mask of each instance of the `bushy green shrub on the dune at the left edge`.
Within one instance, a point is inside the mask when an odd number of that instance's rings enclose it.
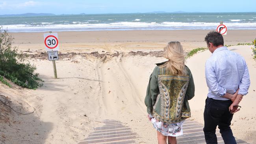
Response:
[[[0,75],[11,80],[13,83],[29,89],[37,89],[43,84],[34,71],[36,67],[30,63],[24,63],[26,54],[18,53],[17,47],[12,47],[13,38],[7,30],[0,27]]]

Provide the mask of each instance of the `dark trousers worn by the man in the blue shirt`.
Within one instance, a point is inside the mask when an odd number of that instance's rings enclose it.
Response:
[[[204,107],[204,137],[206,144],[217,144],[216,127],[220,129],[225,144],[236,144],[230,128],[233,114],[228,107],[231,100],[214,100],[207,98]]]

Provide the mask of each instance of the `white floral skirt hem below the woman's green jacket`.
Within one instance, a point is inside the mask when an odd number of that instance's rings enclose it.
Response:
[[[178,123],[166,123],[166,122],[160,122],[155,117],[152,117],[151,122],[154,126],[154,128],[161,132],[164,136],[171,136],[171,137],[178,137],[180,135],[183,135],[182,130],[182,124],[185,120],[182,120]]]

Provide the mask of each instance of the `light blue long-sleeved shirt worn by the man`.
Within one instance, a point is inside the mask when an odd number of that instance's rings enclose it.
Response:
[[[249,71],[245,59],[225,46],[217,48],[205,63],[206,83],[209,88],[208,98],[223,98],[228,92],[246,95],[250,86]]]

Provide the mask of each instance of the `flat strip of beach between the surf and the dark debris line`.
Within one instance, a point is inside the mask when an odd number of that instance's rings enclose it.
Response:
[[[205,35],[210,30],[134,30],[134,31],[61,31],[59,52],[130,52],[162,50],[169,41],[180,41],[186,51],[206,47]],[[15,46],[22,51],[44,52],[43,33],[10,33]],[[256,30],[229,30],[226,45],[248,43]]]

